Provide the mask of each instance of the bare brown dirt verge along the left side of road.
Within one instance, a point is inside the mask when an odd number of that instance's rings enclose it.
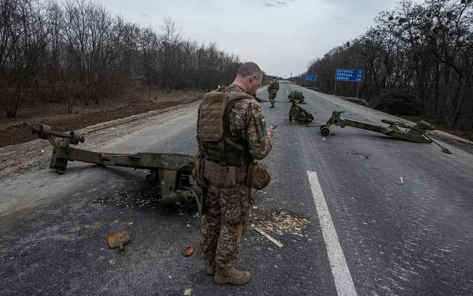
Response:
[[[121,97],[107,100],[94,106],[76,106],[67,114],[67,103],[49,104],[42,108],[22,110],[17,118],[0,117],[0,183],[21,175],[47,169],[52,146],[31,133],[32,126],[47,124],[55,131],[77,131],[86,136],[81,148],[99,148],[109,136],[120,136],[120,132],[104,135],[102,131],[119,130],[132,123],[139,128],[152,124],[148,119],[165,120],[174,111],[187,109],[197,104],[204,92],[174,91],[170,94],[154,89],[150,100]],[[97,135],[100,134],[98,137]],[[99,146],[97,146],[99,145]]]

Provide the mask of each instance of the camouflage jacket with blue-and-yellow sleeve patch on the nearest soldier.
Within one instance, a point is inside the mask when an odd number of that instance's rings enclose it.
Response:
[[[231,84],[226,91],[244,92],[238,85]],[[199,105],[200,114],[201,105]],[[199,121],[197,118],[197,134],[199,133]],[[254,159],[263,159],[271,151],[271,139],[265,133],[264,116],[261,106],[248,94],[248,98],[240,99],[233,106],[229,114],[230,133],[234,137],[248,142],[249,152]]]

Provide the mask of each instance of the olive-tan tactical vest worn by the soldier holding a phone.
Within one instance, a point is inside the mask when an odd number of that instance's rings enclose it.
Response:
[[[204,95],[197,135],[202,156],[223,166],[242,166],[253,160],[248,142],[231,135],[229,115],[241,99],[252,98],[233,87],[223,87]]]

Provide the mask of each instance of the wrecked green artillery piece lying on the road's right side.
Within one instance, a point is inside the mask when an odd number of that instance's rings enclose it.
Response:
[[[417,142],[417,143],[432,143],[439,145],[442,148],[442,152],[452,154],[447,148],[442,147],[439,143],[434,141],[431,137],[427,135],[428,130],[435,130],[435,127],[423,120],[419,121],[414,126],[399,122],[391,121],[387,119],[382,119],[381,121],[389,124],[388,127],[371,124],[363,121],[357,121],[353,119],[343,118],[340,115],[345,111],[333,111],[332,117],[330,117],[326,124],[316,124],[316,125],[306,125],[310,126],[320,126],[320,132],[323,136],[328,136],[330,134],[329,127],[331,125],[338,125],[340,127],[351,126],[356,128],[361,128],[373,132],[382,133],[394,138]]]

